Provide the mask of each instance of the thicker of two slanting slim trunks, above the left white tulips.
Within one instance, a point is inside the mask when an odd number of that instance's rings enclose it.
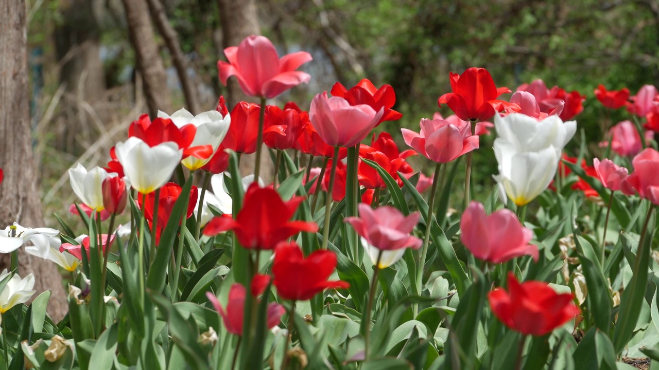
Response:
[[[167,90],[167,73],[154,40],[154,30],[145,0],[121,0],[126,11],[130,43],[135,51],[135,64],[142,75],[144,96],[149,115],[156,117],[158,110],[172,113]]]

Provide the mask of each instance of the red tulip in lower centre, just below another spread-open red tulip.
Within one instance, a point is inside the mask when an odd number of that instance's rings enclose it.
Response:
[[[345,281],[328,281],[336,267],[333,251],[317,250],[304,258],[295,242],[281,242],[272,263],[273,284],[285,300],[306,301],[328,288],[347,289]]]

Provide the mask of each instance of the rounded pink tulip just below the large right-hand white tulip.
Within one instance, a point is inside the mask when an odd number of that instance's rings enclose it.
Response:
[[[483,205],[472,201],[462,215],[460,230],[462,243],[483,261],[502,263],[522,255],[531,255],[538,261],[538,247],[529,244],[533,232],[508,209],[486,216]]]

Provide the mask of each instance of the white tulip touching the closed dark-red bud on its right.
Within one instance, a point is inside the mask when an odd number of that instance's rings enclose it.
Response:
[[[69,169],[69,179],[71,180],[73,192],[82,203],[97,211],[102,211],[105,208],[103,205],[103,190],[101,189],[103,180],[112,176],[117,175],[108,174],[101,167],[95,167],[87,172],[80,163],[75,168]]]

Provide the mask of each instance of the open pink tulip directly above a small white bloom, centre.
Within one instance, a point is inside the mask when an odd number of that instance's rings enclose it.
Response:
[[[420,217],[418,212],[405,217],[401,211],[389,205],[372,209],[367,204],[359,203],[358,208],[359,217],[346,217],[345,221],[378,250],[421,247],[421,240],[410,235],[418,223]]]

